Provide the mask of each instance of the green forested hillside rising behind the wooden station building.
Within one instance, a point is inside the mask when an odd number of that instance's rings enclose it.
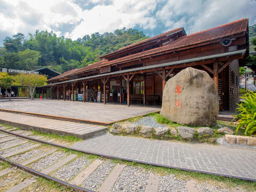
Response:
[[[137,29],[117,29],[114,33],[94,33],[72,41],[47,31],[34,35],[18,33],[4,39],[0,47],[0,68],[33,70],[49,67],[63,73],[97,62],[99,55],[148,38]]]

